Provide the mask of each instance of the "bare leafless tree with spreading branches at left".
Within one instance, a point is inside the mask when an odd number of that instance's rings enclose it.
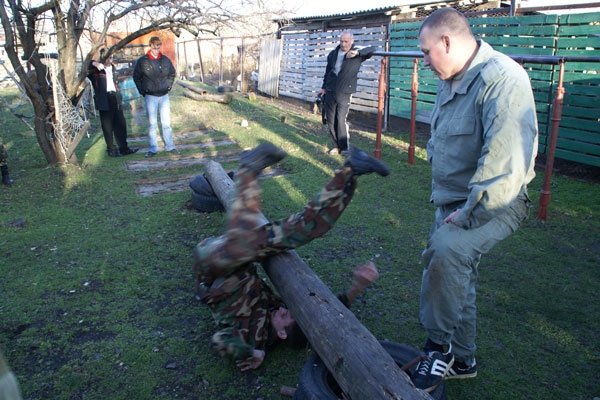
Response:
[[[71,105],[77,104],[86,78],[85,66],[111,31],[119,30],[118,27],[127,23],[127,32],[131,33],[114,43],[105,57],[136,38],[158,30],[170,29],[176,35],[182,30],[194,35],[217,34],[221,27],[234,26],[239,21],[240,13],[235,7],[255,4],[254,0],[242,1],[242,4],[226,4],[225,1],[42,0],[41,4],[34,2],[39,5],[33,6],[23,0],[2,0],[0,20],[6,38],[6,54],[17,80],[33,104],[33,127],[47,162],[77,163],[73,149],[66,151],[61,143],[57,124],[65,118],[58,115],[58,102],[63,98]],[[57,54],[54,57],[40,51],[44,30],[56,35]],[[84,48],[83,39],[91,46]],[[82,62],[78,64],[78,60]],[[65,129],[64,126],[61,129]],[[66,129],[85,128],[73,124]]]

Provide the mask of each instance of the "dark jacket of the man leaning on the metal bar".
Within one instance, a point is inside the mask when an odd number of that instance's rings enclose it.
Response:
[[[356,46],[352,46],[350,50],[358,50]],[[325,68],[325,76],[323,77],[322,89],[327,92],[337,94],[352,94],[356,92],[356,81],[358,80],[358,70],[363,61],[371,58],[371,54],[376,50],[375,47],[365,47],[358,50],[358,55],[354,58],[344,58],[342,68],[339,75],[334,72],[337,55],[340,51],[338,45],[335,50],[327,56],[327,67]]]

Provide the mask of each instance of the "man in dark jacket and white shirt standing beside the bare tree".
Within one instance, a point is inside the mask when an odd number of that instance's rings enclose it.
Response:
[[[122,98],[117,83],[117,69],[112,63],[112,54],[104,57],[106,49],[100,50],[100,61],[88,66],[88,78],[94,88],[94,103],[100,112],[100,124],[106,142],[106,150],[110,157],[126,156],[136,153],[139,148],[127,145],[127,123],[123,115]],[[117,146],[113,142],[117,140]]]

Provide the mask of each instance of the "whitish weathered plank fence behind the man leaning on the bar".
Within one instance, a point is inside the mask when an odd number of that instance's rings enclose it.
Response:
[[[385,51],[387,27],[348,29],[359,48],[377,47]],[[327,55],[339,44],[341,30],[303,32],[283,35],[283,57],[279,94],[313,102],[323,84]],[[377,113],[377,89],[381,58],[366,60],[358,74],[358,90],[350,109]]]

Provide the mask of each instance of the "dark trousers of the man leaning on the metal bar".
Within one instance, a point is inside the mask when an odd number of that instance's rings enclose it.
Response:
[[[340,151],[348,150],[348,147],[350,147],[350,134],[348,133],[346,118],[348,117],[348,111],[350,111],[351,100],[352,94],[350,93],[336,95],[333,92],[327,92],[325,94],[325,116],[329,127],[331,145]]]

